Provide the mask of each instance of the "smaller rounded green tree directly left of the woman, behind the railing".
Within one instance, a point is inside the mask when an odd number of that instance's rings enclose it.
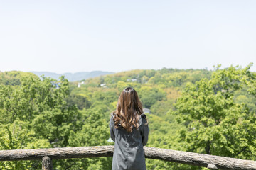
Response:
[[[66,147],[88,147],[110,145],[107,140],[110,138],[108,121],[102,118],[100,111],[89,109],[80,111],[80,130],[71,131],[68,135],[68,146]],[[60,159],[54,162],[56,169],[111,169],[112,158],[92,159]]]

